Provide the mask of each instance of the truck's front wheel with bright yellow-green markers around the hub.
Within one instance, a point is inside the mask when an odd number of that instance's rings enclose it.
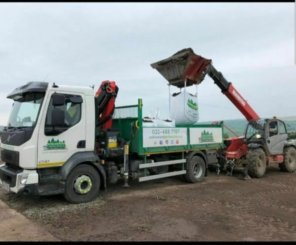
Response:
[[[65,199],[72,203],[82,203],[98,195],[101,179],[94,167],[81,164],[70,171],[65,184]]]

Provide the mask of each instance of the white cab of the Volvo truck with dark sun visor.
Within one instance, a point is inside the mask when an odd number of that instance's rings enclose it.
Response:
[[[7,98],[13,106],[1,133],[3,187],[23,194],[63,193],[70,165],[85,156],[98,159],[93,89],[30,82]]]

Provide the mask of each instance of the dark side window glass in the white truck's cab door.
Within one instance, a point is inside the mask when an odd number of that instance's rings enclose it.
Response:
[[[45,119],[45,135],[51,135],[49,131],[52,131],[52,109],[60,109],[65,112],[65,124],[63,126],[59,126],[57,131],[60,133],[66,131],[67,129],[71,128],[81,120],[81,104],[74,104],[71,103],[69,97],[81,97],[79,95],[71,95],[71,94],[63,94],[65,95],[65,104],[62,106],[54,107],[52,105],[52,98],[50,99],[46,119]]]

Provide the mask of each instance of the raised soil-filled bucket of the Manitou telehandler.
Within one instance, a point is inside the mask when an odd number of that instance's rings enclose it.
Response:
[[[169,83],[169,85],[183,88],[200,84],[205,77],[205,70],[212,60],[203,58],[193,52],[192,48],[185,48],[171,57],[151,64]]]

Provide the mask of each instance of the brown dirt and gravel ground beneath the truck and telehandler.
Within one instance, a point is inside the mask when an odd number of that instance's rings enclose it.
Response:
[[[269,167],[249,181],[210,173],[200,184],[130,184],[83,205],[4,190],[0,199],[62,241],[296,241],[296,173]]]

